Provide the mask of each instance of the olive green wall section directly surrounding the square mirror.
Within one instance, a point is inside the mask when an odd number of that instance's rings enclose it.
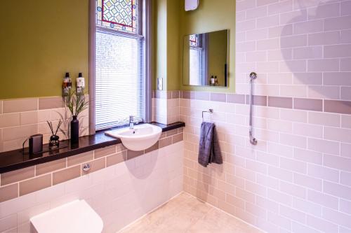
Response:
[[[197,10],[185,11],[184,1],[180,1],[180,73],[183,73],[183,37],[208,31],[229,29],[228,85],[229,87],[194,87],[183,85],[179,77],[180,90],[197,90],[213,92],[234,92],[235,68],[235,1],[201,0]],[[168,80],[169,81],[169,80]]]

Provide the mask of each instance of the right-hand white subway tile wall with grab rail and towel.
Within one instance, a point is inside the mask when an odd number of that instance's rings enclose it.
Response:
[[[237,1],[237,94],[249,94],[251,71],[254,93],[269,96],[253,109],[257,146],[240,95],[183,93],[184,190],[267,232],[351,232],[351,1]],[[224,164],[204,168],[208,108]]]

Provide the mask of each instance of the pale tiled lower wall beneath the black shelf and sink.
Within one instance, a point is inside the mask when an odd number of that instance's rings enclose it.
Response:
[[[48,188],[44,187],[45,178],[48,175],[39,176],[42,181],[38,183],[42,186],[40,188],[44,189],[27,195],[23,193],[20,197],[1,202],[0,232],[29,233],[29,219],[32,216],[75,199],[85,199],[102,218],[103,232],[115,233],[182,192],[183,141],[133,157],[131,160],[122,157],[119,157],[118,161],[109,160],[109,158],[117,158],[115,155],[118,154],[115,152],[119,151],[121,146],[110,148],[114,150],[95,150],[95,155],[107,156],[106,162],[105,157],[94,160],[95,162],[103,160],[104,169],[86,174],[81,171],[81,165],[79,165],[77,176],[74,176],[74,171],[60,170],[67,175],[65,182],[55,184],[55,176],[53,176],[54,185]],[[43,165],[48,166],[48,164]],[[99,165],[92,164],[92,166]],[[68,177],[69,174],[72,174],[72,178]],[[62,174],[59,177],[62,178]],[[31,187],[38,186],[32,183],[27,185],[23,187],[25,192],[31,192]],[[11,185],[6,187],[11,188]],[[3,197],[2,195],[10,195],[11,192],[12,190],[6,190],[0,195]]]

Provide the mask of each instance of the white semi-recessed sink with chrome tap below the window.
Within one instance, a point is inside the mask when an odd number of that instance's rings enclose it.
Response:
[[[157,143],[162,129],[156,125],[135,125],[134,129],[129,127],[114,129],[105,132],[108,136],[121,139],[123,145],[129,150],[145,150]]]

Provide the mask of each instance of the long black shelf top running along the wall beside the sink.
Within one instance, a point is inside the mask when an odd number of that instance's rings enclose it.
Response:
[[[184,122],[176,122],[170,125],[163,125],[157,122],[152,122],[151,124],[161,127],[162,132],[185,127]],[[48,152],[36,155],[28,155],[28,148],[25,148],[25,154],[22,153],[22,149],[0,153],[0,174],[121,143],[120,139],[105,135],[105,131],[97,132],[94,135],[81,136],[79,143],[74,145],[71,145],[69,140],[60,141],[60,149],[58,150],[48,151],[48,144],[44,144],[43,150]]]

